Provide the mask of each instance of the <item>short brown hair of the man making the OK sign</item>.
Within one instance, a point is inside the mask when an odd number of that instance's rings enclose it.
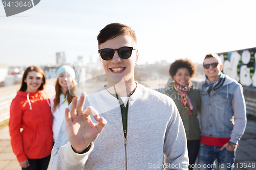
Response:
[[[109,39],[113,39],[118,35],[131,36],[132,40],[137,44],[137,38],[135,32],[128,26],[121,23],[110,23],[100,30],[97,37],[98,45],[106,42]]]

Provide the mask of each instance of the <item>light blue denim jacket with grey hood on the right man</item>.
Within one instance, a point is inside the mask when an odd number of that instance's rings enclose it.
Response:
[[[246,126],[246,107],[243,87],[225,75],[223,85],[209,96],[205,81],[199,84],[201,104],[201,135],[230,138],[237,143]]]

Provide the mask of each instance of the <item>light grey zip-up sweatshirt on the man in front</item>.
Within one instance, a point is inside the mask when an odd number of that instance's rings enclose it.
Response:
[[[88,106],[108,124],[87,153],[77,154],[64,120],[52,150],[51,169],[187,169],[184,127],[168,96],[137,84],[129,98],[126,138],[119,101],[104,87],[87,96],[84,109]]]

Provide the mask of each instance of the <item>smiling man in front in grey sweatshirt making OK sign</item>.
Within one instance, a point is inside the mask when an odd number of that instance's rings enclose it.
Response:
[[[78,102],[74,98],[66,109],[51,169],[187,169],[175,103],[134,80],[139,57],[134,31],[111,23],[100,31],[98,47],[108,84]]]

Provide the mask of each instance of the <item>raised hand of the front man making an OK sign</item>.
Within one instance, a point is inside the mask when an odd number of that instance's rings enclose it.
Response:
[[[83,104],[86,100],[84,95],[82,92],[78,103],[77,99],[73,98],[71,109],[67,108],[65,111],[69,141],[76,153],[82,153],[86,150],[106,125],[106,120],[100,117],[93,107],[89,106],[83,111]],[[92,122],[90,114],[93,115],[98,124]]]

